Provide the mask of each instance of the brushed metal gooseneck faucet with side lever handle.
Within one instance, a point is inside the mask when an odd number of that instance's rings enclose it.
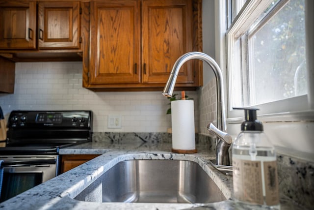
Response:
[[[211,69],[213,70],[216,78],[217,85],[217,127],[216,128],[212,123],[207,126],[207,129],[211,134],[214,134],[217,137],[216,145],[216,164],[217,165],[230,165],[229,160],[229,147],[232,143],[232,137],[225,133],[226,130],[226,115],[225,115],[225,106],[224,106],[224,85],[223,77],[221,70],[216,63],[209,55],[201,52],[189,52],[182,55],[174,64],[169,79],[166,83],[165,88],[163,89],[162,94],[166,97],[171,97],[175,84],[177,81],[178,73],[183,63],[187,60],[199,59],[207,62]]]

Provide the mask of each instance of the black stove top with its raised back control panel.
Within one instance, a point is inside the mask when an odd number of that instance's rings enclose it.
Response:
[[[12,111],[0,155],[58,154],[92,141],[91,111]]]

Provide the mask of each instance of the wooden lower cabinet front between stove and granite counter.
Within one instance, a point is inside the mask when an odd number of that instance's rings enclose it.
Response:
[[[65,154],[61,156],[61,173],[69,171],[100,154]]]

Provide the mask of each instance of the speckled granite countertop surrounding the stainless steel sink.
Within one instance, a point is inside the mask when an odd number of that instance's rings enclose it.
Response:
[[[81,146],[83,148],[83,146]],[[91,154],[101,153],[100,156],[83,163],[82,165],[65,172],[52,180],[48,180],[24,193],[21,193],[3,203],[0,209],[16,210],[83,210],[83,209],[158,209],[158,210],[181,210],[193,209],[207,204],[147,204],[147,203],[94,203],[75,200],[79,192],[99,178],[107,170],[118,162],[133,159],[148,160],[189,160],[198,163],[210,178],[221,188],[226,198],[232,196],[232,178],[217,171],[210,163],[214,156],[204,153],[178,154],[166,150],[113,150],[113,149],[60,149],[60,154]],[[31,198],[31,199],[30,199]],[[219,202],[218,206],[225,206],[228,202]],[[215,204],[210,204],[210,206]],[[217,208],[216,208],[217,209]],[[220,209],[220,208],[218,208]],[[226,209],[226,208],[224,208]]]

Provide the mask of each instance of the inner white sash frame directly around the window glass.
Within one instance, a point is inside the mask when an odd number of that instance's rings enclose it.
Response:
[[[226,52],[227,52],[227,78],[228,78],[228,118],[234,119],[243,116],[239,110],[233,110],[232,106],[232,90],[233,81],[231,79],[232,67],[235,66],[235,43],[236,41],[250,29],[251,25],[261,16],[263,11],[271,4],[273,0],[247,0],[235,17],[234,22],[226,33]],[[286,4],[288,0],[282,0],[280,4]],[[230,8],[229,8],[230,9]],[[313,54],[313,49],[312,49]],[[245,56],[242,56],[245,59]],[[310,75],[310,74],[308,74]],[[313,77],[309,78],[308,84],[314,82]],[[245,82],[245,81],[244,81]],[[310,86],[310,85],[309,85]],[[313,102],[309,99],[314,91],[308,88],[308,95],[297,96],[275,102],[257,105],[260,109],[259,119],[262,121],[278,121],[278,120],[313,120]],[[247,94],[247,93],[244,93]],[[311,110],[312,109],[312,110]],[[240,119],[237,119],[240,120]]]

